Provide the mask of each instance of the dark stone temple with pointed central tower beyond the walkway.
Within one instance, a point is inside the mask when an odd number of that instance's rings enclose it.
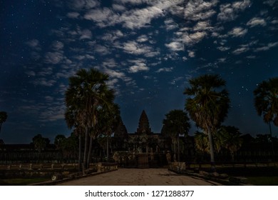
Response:
[[[194,155],[194,140],[190,136],[182,140],[184,140],[182,152],[186,152],[187,158],[190,159]],[[115,131],[111,149],[114,152],[125,151],[130,154],[147,154],[149,160],[152,155],[158,154],[160,154],[160,157],[163,155],[164,160],[166,160],[166,154],[170,154],[171,161],[175,159],[172,139],[160,133],[153,133],[145,110],[140,115],[135,133],[128,134],[123,121],[120,122],[120,126]]]

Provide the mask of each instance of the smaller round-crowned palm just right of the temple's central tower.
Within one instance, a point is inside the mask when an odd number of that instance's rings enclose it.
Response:
[[[170,136],[174,141],[177,141],[177,161],[180,161],[180,135],[188,134],[190,129],[189,118],[182,110],[173,110],[165,114],[166,118],[163,119],[163,132]]]

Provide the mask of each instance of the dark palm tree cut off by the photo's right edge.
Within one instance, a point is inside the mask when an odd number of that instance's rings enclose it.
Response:
[[[271,122],[278,126],[278,77],[262,81],[254,90],[254,106],[264,122],[269,124],[272,137]]]

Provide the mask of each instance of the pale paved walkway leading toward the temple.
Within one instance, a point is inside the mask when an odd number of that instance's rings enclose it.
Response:
[[[61,186],[211,186],[220,185],[168,169],[118,169],[105,174],[67,181]]]

